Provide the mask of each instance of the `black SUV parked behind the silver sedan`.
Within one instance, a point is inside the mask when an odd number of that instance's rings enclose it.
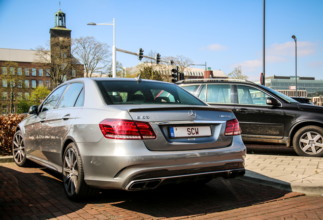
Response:
[[[231,109],[245,144],[293,146],[300,156],[323,156],[323,107],[238,79],[186,79],[176,84],[206,103]]]

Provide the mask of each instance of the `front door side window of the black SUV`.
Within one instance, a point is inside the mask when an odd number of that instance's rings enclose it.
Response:
[[[249,86],[237,85],[239,104],[267,105],[266,99],[271,97],[267,93]]]

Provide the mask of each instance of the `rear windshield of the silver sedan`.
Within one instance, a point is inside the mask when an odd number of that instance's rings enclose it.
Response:
[[[107,104],[207,105],[174,84],[156,81],[96,80]]]

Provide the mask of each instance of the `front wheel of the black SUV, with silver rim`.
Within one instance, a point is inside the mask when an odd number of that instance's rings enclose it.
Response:
[[[294,136],[293,146],[300,156],[323,156],[323,128],[305,126],[299,129]]]

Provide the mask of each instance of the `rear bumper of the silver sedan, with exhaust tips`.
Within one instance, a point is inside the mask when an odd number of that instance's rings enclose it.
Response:
[[[77,143],[85,182],[93,187],[139,190],[160,184],[234,178],[245,173],[241,136],[231,146],[191,151],[150,151],[143,141]],[[86,156],[82,156],[86,155]]]

